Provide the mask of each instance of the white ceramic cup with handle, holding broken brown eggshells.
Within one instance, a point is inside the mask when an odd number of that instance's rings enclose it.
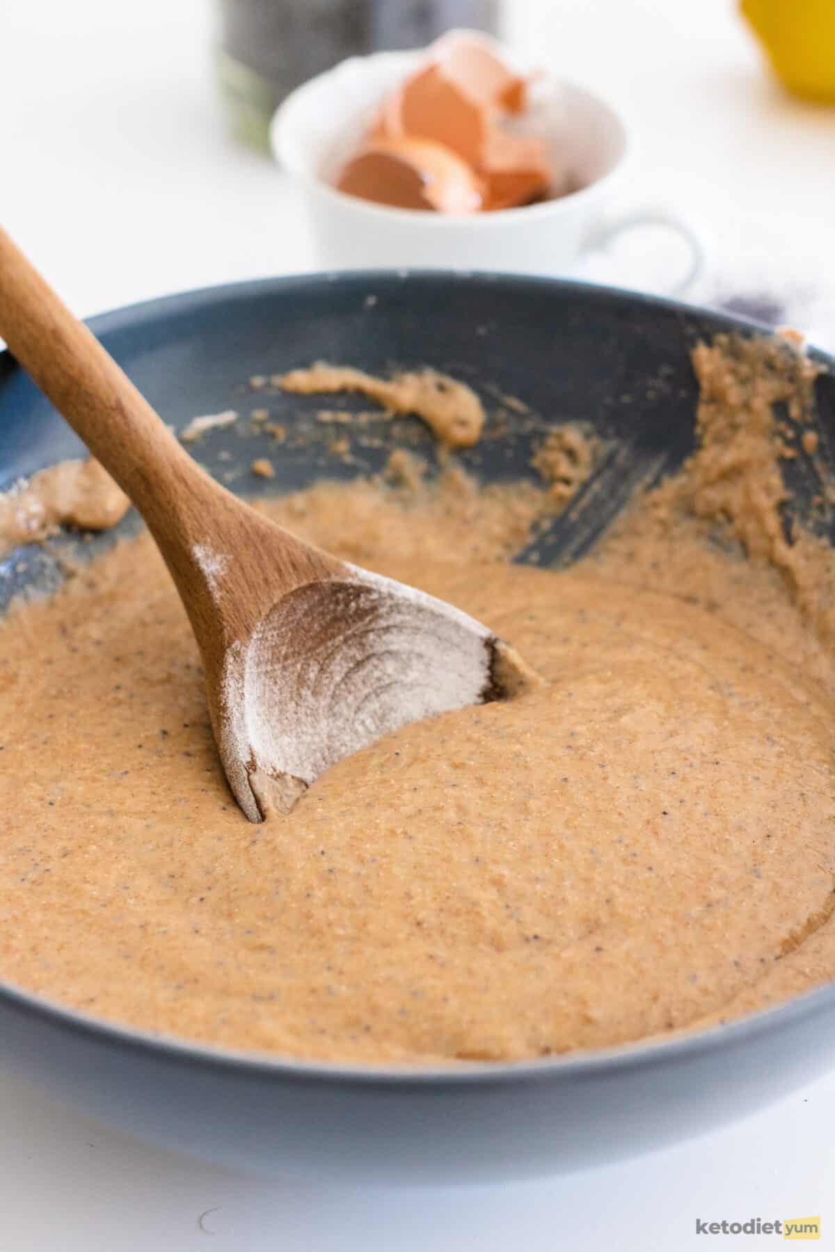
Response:
[[[665,289],[679,294],[690,285],[702,248],[681,217],[657,205],[612,217],[628,167],[627,130],[610,105],[572,83],[550,83],[535,93],[531,124],[546,136],[555,168],[567,169],[580,190],[472,215],[394,209],[338,192],[333,180],[381,100],[421,59],[411,51],[351,58],[304,83],[273,118],[273,151],[304,189],[322,269],[428,267],[576,277],[590,253],[615,237],[660,225],[677,233],[689,249],[686,264],[679,260],[677,272],[665,274]]]

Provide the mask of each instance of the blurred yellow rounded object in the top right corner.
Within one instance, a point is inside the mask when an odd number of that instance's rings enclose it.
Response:
[[[740,9],[790,91],[835,104],[835,0],[740,0]]]

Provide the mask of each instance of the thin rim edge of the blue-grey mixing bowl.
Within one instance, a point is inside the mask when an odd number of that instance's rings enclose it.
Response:
[[[714,333],[739,332],[746,336],[772,336],[775,328],[751,318],[714,310],[704,305],[687,304],[669,297],[632,292],[625,288],[603,287],[575,279],[547,278],[543,275],[494,273],[466,269],[356,269],[330,270],[310,274],[288,274],[274,278],[245,279],[202,287],[170,295],[123,305],[88,318],[86,324],[98,336],[135,331],[159,319],[188,317],[224,303],[239,303],[253,298],[307,294],[317,289],[327,290],[332,284],[354,289],[358,308],[367,295],[383,290],[399,292],[404,283],[428,285],[457,283],[506,290],[525,290],[546,294],[548,292],[573,295],[587,303],[612,303],[622,307],[662,309],[675,314],[682,332],[690,323],[709,323]],[[835,357],[816,347],[809,347],[811,359],[829,374],[835,374]],[[8,349],[0,351],[0,399],[6,372],[4,366],[14,362]],[[20,367],[13,363],[11,373]],[[48,462],[49,463],[49,462]],[[0,467],[1,475],[1,467]],[[406,1064],[346,1064],[339,1060],[305,1060],[287,1054],[250,1052],[215,1047],[188,1038],[134,1029],[126,1024],[110,1022],[93,1014],[81,1013],[50,997],[36,995],[0,979],[0,1013],[15,1012],[34,1018],[46,1025],[70,1033],[100,1045],[115,1045],[131,1053],[141,1053],[149,1060],[170,1062],[198,1067],[207,1072],[235,1073],[239,1077],[272,1078],[282,1082],[315,1083],[318,1085],[349,1085],[406,1090],[441,1085],[442,1088],[488,1085],[507,1087],[540,1083],[547,1079],[582,1082],[605,1074],[637,1072],[675,1063],[697,1062],[706,1054],[732,1050],[761,1039],[780,1034],[802,1022],[811,1022],[835,1010],[835,980],[812,988],[787,1000],[747,1013],[727,1023],[704,1029],[684,1028],[671,1035],[652,1035],[610,1048],[585,1049],[550,1057],[523,1060],[457,1060],[449,1063]],[[835,1055],[834,1055],[835,1060]]]

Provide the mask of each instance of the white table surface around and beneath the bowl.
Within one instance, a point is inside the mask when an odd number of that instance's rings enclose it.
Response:
[[[769,81],[731,0],[510,10],[516,43],[631,118],[633,194],[687,212],[709,240],[694,298],[774,300],[835,348],[835,110]],[[79,313],[315,265],[293,189],[225,138],[209,19],[205,0],[8,0],[0,16],[0,212]],[[651,288],[661,247],[632,240],[596,274]],[[835,1069],[731,1129],[621,1166],[343,1191],[160,1153],[0,1075],[0,1252],[684,1252],[699,1246],[696,1217],[817,1213],[819,1246],[835,1247],[834,1124]]]

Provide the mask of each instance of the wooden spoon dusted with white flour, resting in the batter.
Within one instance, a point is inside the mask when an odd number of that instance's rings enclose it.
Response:
[[[526,685],[486,626],[300,542],[214,482],[3,230],[0,336],[148,523],[250,821],[406,722]]]

